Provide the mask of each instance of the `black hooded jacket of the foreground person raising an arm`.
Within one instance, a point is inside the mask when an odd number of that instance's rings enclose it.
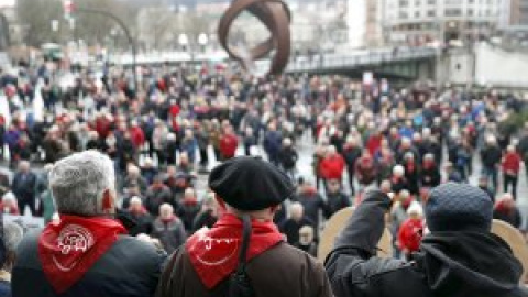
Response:
[[[337,297],[520,297],[522,267],[508,245],[491,233],[436,232],[413,262],[376,257],[391,200],[370,193],[326,261]]]

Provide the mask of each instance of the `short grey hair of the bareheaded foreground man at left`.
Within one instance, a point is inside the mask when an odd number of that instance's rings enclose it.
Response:
[[[116,190],[113,163],[96,151],[73,154],[55,163],[50,186],[58,212],[98,216],[102,212],[105,190]]]

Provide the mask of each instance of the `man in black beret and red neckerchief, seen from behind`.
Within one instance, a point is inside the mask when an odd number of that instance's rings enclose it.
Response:
[[[321,264],[285,243],[273,223],[295,187],[277,167],[237,157],[209,176],[221,217],[177,250],[157,297],[332,296]]]

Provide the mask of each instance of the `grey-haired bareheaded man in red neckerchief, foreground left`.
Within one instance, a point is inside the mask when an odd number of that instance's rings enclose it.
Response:
[[[19,245],[13,296],[152,296],[166,255],[114,219],[111,160],[95,151],[63,158],[50,186],[59,221]]]

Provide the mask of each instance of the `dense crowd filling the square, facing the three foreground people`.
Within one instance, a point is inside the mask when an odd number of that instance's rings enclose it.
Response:
[[[503,125],[525,109],[514,96],[341,76],[257,78],[205,66],[145,66],[139,86],[119,67],[68,75],[69,86],[47,63],[0,77],[10,114],[0,116],[3,213],[59,223],[57,209],[72,206],[54,199],[53,164],[95,150],[112,161],[116,216],[127,232],[169,254],[221,219],[218,191],[200,179],[240,154],[266,158],[295,184],[273,220],[287,243],[314,256],[324,221],[360,206],[373,188],[394,201],[388,228],[400,258],[419,250],[430,190],[448,182],[476,175],[494,218],[521,230],[526,221],[516,202],[528,127]],[[302,154],[311,157],[309,172],[300,169]]]

